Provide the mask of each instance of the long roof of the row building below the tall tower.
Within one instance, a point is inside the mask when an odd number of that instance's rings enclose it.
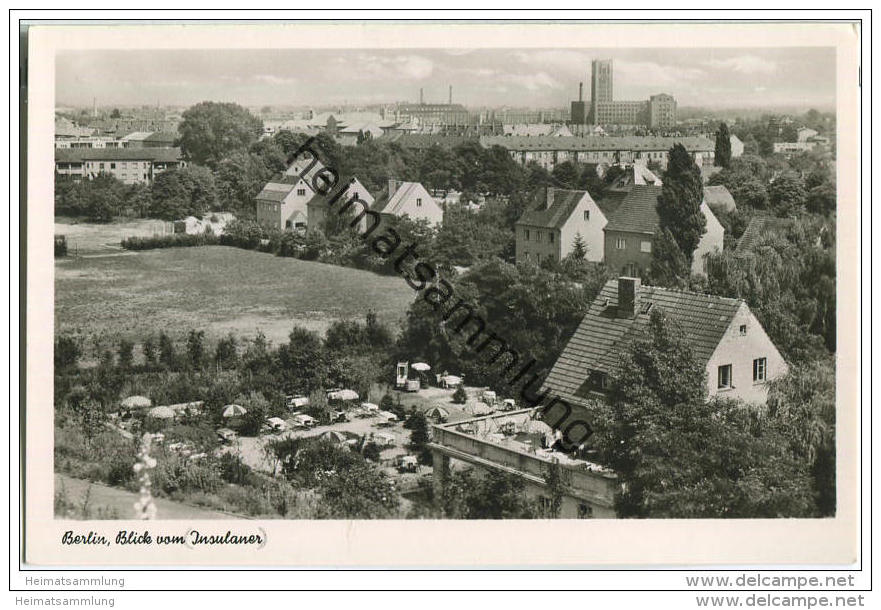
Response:
[[[658,136],[482,136],[480,143],[485,147],[501,146],[508,150],[550,151],[550,150],[638,150],[667,151],[674,144],[682,144],[689,152],[709,152],[715,150],[715,143],[701,137],[658,137]]]

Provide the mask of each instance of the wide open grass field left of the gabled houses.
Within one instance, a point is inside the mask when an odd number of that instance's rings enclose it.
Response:
[[[323,333],[369,309],[398,332],[414,297],[399,277],[225,246],[168,248],[58,259],[55,332],[139,343],[160,330],[175,339],[191,328],[208,339],[259,330],[279,343],[295,324]]]

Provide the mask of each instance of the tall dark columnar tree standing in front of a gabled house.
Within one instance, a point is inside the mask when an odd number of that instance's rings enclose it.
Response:
[[[670,151],[664,186],[658,196],[658,218],[660,229],[670,231],[689,267],[707,230],[707,219],[700,209],[702,202],[700,170],[685,147],[676,144]]]

